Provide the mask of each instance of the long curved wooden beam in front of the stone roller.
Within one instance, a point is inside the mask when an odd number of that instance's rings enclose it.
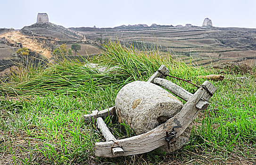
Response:
[[[210,82],[206,81],[203,84],[206,85],[206,87],[212,88],[212,93],[216,91],[216,88],[213,88],[213,85]],[[184,130],[191,123],[192,119],[200,111],[195,105],[198,103],[199,99],[205,95],[205,93],[206,91],[202,88],[198,89],[198,91],[196,91],[196,93],[188,100],[178,114],[149,132],[127,139],[115,140],[114,142],[109,141],[95,143],[95,155],[97,157],[116,157],[113,156],[111,149],[119,146],[121,146],[124,150],[123,156],[141,154],[161,147],[166,143],[165,132],[172,130],[173,126],[182,125],[182,128],[176,129],[177,136],[184,132]],[[208,97],[208,99],[210,97]],[[170,146],[172,147],[172,145]]]

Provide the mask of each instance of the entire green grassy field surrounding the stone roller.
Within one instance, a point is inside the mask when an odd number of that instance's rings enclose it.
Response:
[[[110,42],[102,56],[88,62],[119,66],[119,74],[102,74],[77,61],[60,61],[47,68],[29,69],[0,86],[0,164],[253,164],[256,161],[256,79],[225,74],[212,82],[217,91],[210,106],[193,121],[187,144],[173,154],[158,150],[118,158],[94,156],[94,143],[104,141],[96,126],[81,115],[114,106],[117,92],[127,83],[146,81],[164,64],[171,75],[201,84],[198,75],[213,70],[187,66],[162,52],[140,52]],[[236,77],[246,76],[246,79]],[[188,83],[172,82],[194,93]],[[115,116],[105,122],[117,139],[133,136]]]

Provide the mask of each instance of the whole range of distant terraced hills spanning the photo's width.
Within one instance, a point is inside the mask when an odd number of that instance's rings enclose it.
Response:
[[[256,63],[256,29],[236,27],[198,27],[182,25],[122,25],[114,28],[65,28],[49,22],[25,26],[20,31],[0,29],[0,59],[14,55],[21,43],[43,57],[52,58],[60,44],[83,44],[81,55],[99,52],[96,47],[107,39],[118,39],[139,49],[158,46],[187,64],[209,66],[222,62]],[[87,45],[89,44],[89,46]],[[91,46],[96,47],[91,47]],[[90,48],[90,50],[89,50]]]

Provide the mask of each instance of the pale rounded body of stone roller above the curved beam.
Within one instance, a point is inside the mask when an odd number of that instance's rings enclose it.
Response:
[[[182,107],[176,97],[150,82],[128,83],[116,96],[118,121],[130,125],[136,135],[165,123]]]

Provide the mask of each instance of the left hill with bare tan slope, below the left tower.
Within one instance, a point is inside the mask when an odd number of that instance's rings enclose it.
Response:
[[[47,63],[55,60],[52,50],[64,43],[67,48],[73,43],[81,44],[81,50],[78,51],[81,56],[99,53],[95,42],[86,41],[83,34],[60,25],[44,22],[25,26],[21,30],[0,28],[0,71],[25,62],[23,57],[17,56],[17,49],[29,49],[28,61],[33,59],[33,62]],[[76,55],[74,52],[73,54]],[[76,58],[74,55],[71,58]]]

